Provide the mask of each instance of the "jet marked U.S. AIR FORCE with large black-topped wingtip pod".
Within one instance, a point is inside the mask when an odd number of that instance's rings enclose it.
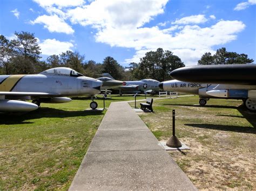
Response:
[[[171,80],[159,86],[165,90],[197,94],[201,105],[211,97],[237,99],[244,101],[248,110],[256,111],[255,74],[255,64],[190,66],[171,72],[174,79],[186,82]]]

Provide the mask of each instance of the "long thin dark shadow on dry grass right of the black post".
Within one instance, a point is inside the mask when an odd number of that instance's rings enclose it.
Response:
[[[202,128],[202,129],[214,129],[221,131],[234,131],[234,132],[242,132],[242,133],[252,133],[256,134],[255,128],[250,128],[247,126],[234,126],[234,125],[217,125],[217,124],[197,124],[197,123],[187,123],[184,124],[187,126],[192,126],[194,128]]]

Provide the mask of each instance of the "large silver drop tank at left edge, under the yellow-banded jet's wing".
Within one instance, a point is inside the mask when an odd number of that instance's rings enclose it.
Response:
[[[19,100],[0,100],[0,112],[28,112],[38,109],[36,104]]]

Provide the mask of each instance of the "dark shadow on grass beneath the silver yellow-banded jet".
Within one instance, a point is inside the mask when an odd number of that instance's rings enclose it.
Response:
[[[102,111],[65,111],[54,108],[39,108],[35,111],[31,111],[23,114],[2,114],[0,117],[0,124],[30,124],[33,122],[23,122],[29,119],[39,118],[66,118],[66,117],[78,117],[78,116],[95,116],[103,115]]]

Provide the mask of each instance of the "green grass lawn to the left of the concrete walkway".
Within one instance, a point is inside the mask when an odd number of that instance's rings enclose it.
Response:
[[[134,100],[111,97],[106,107]],[[42,103],[27,114],[0,115],[0,190],[68,189],[105,114],[85,112],[90,102],[75,97],[70,103]]]

